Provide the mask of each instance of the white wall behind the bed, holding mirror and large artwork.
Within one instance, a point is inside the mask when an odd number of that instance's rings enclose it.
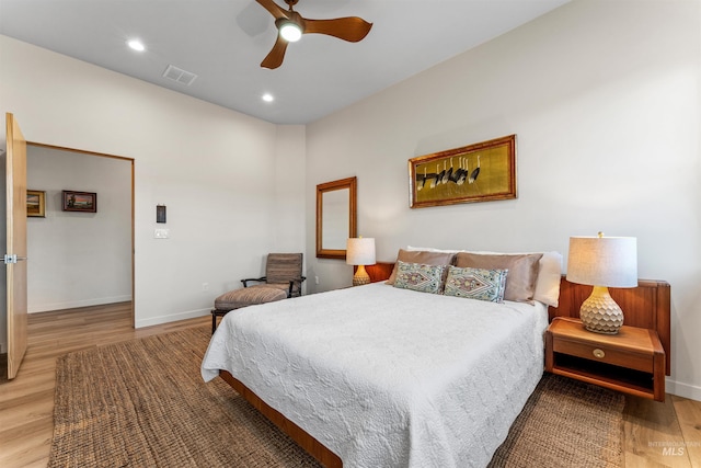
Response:
[[[668,390],[701,400],[699,5],[575,0],[309,125],[308,231],[313,186],[357,175],[378,260],[406,244],[566,256],[570,236],[634,236],[639,275],[671,284]],[[510,134],[517,199],[409,208],[410,158]],[[312,259],[308,275],[325,290],[352,269]]]

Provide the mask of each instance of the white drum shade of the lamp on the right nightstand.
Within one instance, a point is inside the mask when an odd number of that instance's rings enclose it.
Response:
[[[567,281],[591,286],[637,286],[637,240],[634,237],[571,237]]]

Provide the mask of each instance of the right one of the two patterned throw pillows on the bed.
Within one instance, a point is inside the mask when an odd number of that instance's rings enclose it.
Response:
[[[459,269],[450,266],[444,294],[471,299],[504,301],[508,270]]]

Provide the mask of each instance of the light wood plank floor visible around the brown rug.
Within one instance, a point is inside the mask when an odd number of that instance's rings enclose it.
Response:
[[[210,323],[207,316],[134,330],[128,303],[31,315],[20,373],[0,384],[0,467],[46,467],[56,357]],[[671,395],[664,403],[628,398],[622,437],[625,468],[701,467],[701,402]]]

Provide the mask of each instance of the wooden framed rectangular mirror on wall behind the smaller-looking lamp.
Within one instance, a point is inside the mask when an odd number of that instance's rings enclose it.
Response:
[[[345,260],[356,217],[356,178],[317,185],[317,258]]]

